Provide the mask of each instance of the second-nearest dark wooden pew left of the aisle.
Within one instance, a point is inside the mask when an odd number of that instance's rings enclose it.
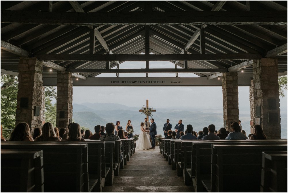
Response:
[[[89,191],[87,144],[4,142],[1,149],[43,150],[44,192]]]

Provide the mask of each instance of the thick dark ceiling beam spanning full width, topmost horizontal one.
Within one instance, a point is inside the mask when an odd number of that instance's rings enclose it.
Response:
[[[287,25],[286,11],[33,12],[1,10],[1,23],[51,25]]]

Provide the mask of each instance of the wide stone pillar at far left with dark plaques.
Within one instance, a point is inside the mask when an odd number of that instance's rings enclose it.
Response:
[[[16,124],[28,123],[31,131],[42,126],[42,62],[37,58],[20,57]]]

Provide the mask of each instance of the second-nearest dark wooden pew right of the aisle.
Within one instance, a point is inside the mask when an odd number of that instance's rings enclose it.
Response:
[[[275,150],[287,144],[212,145],[211,191],[260,192],[262,152]]]

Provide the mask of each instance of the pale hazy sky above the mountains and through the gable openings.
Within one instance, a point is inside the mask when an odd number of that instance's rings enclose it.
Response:
[[[145,62],[124,62],[120,68],[145,68]],[[149,68],[175,68],[171,62],[150,62]],[[115,74],[101,74],[97,77],[115,77]],[[120,74],[119,77],[146,77],[145,73]],[[175,73],[149,73],[149,77],[175,77]],[[179,77],[198,77],[193,73],[179,73]],[[221,81],[221,80],[220,80]],[[238,87],[239,109],[250,113],[249,87]],[[287,91],[280,97],[280,108],[287,111]],[[222,87],[73,87],[73,103],[119,103],[130,107],[203,107],[223,109]]]

